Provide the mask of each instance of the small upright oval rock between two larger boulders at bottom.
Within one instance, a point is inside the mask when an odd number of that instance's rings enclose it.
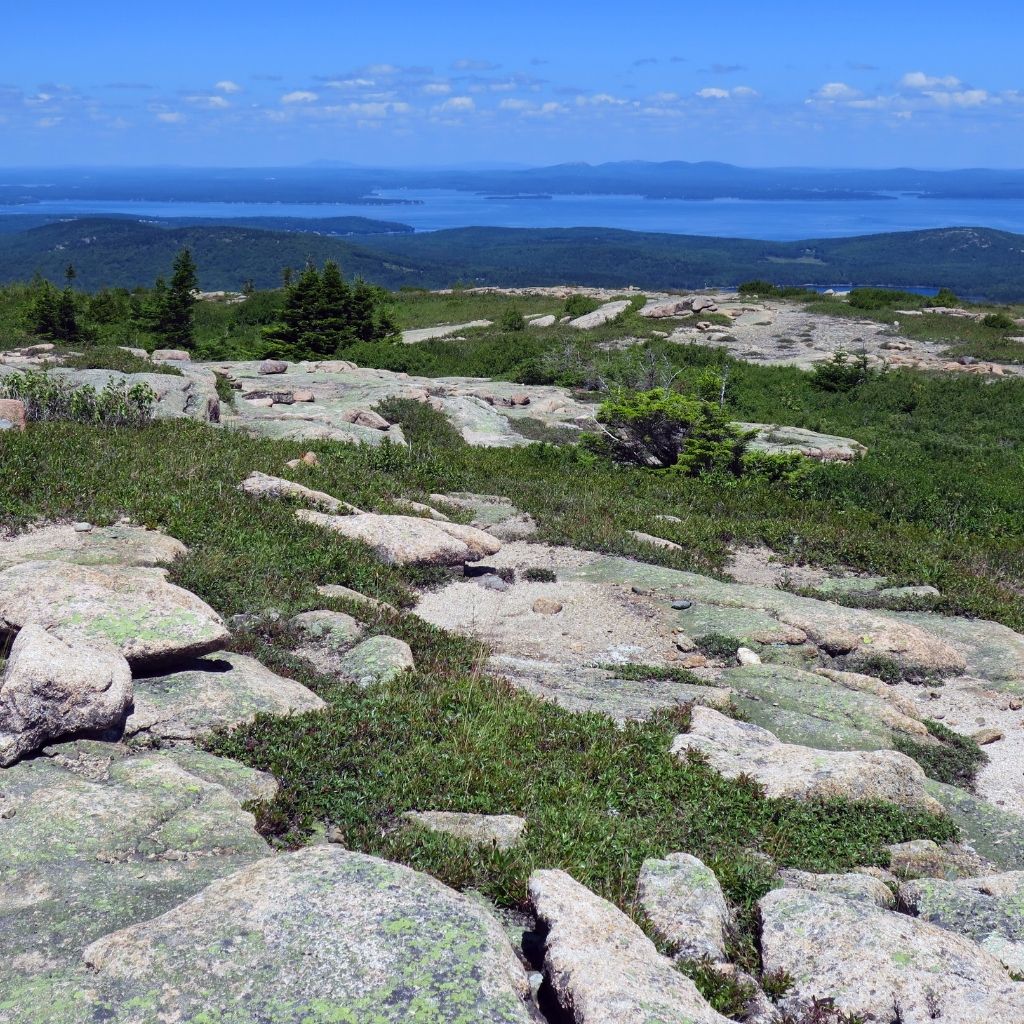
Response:
[[[682,959],[726,959],[732,915],[715,872],[688,853],[645,860],[637,899],[658,938]]]

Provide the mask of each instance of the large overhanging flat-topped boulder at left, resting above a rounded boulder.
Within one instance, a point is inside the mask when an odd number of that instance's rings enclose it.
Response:
[[[166,570],[22,562],[0,571],[0,633],[30,623],[62,640],[113,644],[133,668],[219,650],[228,633]]]

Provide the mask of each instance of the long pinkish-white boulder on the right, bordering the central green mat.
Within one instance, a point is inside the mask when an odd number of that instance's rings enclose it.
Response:
[[[677,736],[678,757],[695,752],[727,778],[749,775],[768,797],[793,800],[883,800],[941,812],[925,791],[925,773],[896,751],[819,751],[783,743],[767,729],[694,707],[690,731]]]

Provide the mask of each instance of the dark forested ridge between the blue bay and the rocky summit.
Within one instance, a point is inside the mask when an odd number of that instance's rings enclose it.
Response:
[[[286,266],[338,260],[344,272],[388,288],[595,285],[648,289],[780,285],[947,287],[994,301],[1024,300],[1024,236],[983,227],[847,239],[764,242],[605,228],[470,227],[337,238],[233,224],[163,227],[129,218],[83,217],[5,233],[0,281],[39,272],[78,285],[150,285],[189,247],[202,287],[281,283]]]

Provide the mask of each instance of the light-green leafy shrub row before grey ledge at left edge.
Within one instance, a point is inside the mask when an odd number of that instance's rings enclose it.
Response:
[[[29,420],[71,420],[104,427],[139,427],[153,419],[157,393],[147,384],[111,381],[101,391],[30,370],[0,383],[0,397],[25,402]]]

